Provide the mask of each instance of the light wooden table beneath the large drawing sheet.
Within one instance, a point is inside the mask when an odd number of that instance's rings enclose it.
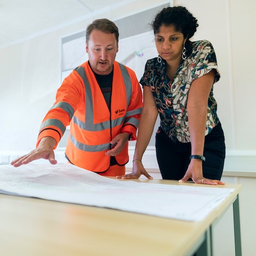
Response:
[[[170,180],[136,181],[178,185]],[[212,225],[233,204],[235,251],[240,256],[241,185],[217,187],[235,190],[199,222],[0,194],[0,255],[213,255]]]

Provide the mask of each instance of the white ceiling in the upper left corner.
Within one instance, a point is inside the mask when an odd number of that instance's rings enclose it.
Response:
[[[129,0],[0,0],[0,48],[103,13]]]

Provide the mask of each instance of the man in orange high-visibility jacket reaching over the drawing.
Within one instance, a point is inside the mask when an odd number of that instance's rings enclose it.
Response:
[[[107,19],[86,30],[88,61],[78,66],[57,91],[56,102],[42,121],[36,149],[11,162],[18,167],[36,159],[52,164],[60,138],[70,124],[66,159],[101,175],[125,173],[128,140],[136,139],[142,92],[135,72],[115,61],[117,26]]]

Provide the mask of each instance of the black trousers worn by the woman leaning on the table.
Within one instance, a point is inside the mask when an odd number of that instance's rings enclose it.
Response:
[[[156,133],[156,157],[163,179],[180,180],[190,163],[191,143],[173,142],[161,127]],[[225,159],[225,139],[221,123],[205,136],[203,175],[220,180]]]

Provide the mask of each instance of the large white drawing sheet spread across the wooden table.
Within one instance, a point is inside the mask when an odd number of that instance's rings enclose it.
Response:
[[[109,179],[69,163],[0,166],[0,193],[200,221],[230,188]]]

